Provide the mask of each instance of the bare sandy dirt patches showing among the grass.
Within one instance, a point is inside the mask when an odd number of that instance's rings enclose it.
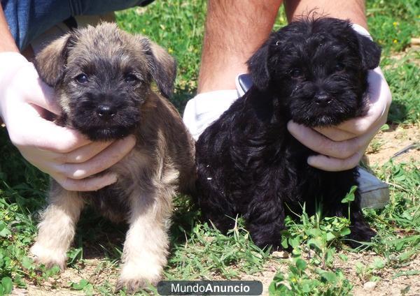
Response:
[[[367,149],[367,158],[370,165],[380,166],[386,163],[386,161],[395,154],[398,154],[398,152],[404,151],[404,153],[394,156],[393,159],[395,162],[408,162],[413,159],[419,161],[420,147],[416,146],[419,145],[419,143],[419,124],[412,126],[391,126],[388,131],[381,131],[374,138],[369,149]],[[411,148],[407,149],[407,147]],[[357,274],[355,262],[362,262],[363,265],[368,266],[375,258],[381,258],[381,256],[369,252],[340,252],[345,253],[349,259],[347,262],[337,259],[335,265],[345,270],[347,279],[351,280],[351,283],[354,285],[354,295],[420,295],[420,275],[398,276],[394,278],[397,272],[420,270],[420,254],[415,255],[416,258],[414,257],[414,260],[409,262],[409,265],[405,267],[398,269],[379,269],[379,271],[377,271],[374,275],[379,276],[380,281],[366,284],[367,279],[364,279],[363,276]],[[86,251],[85,256],[87,256],[87,258],[94,257],[86,254]],[[283,260],[288,259],[286,258]],[[264,285],[264,295],[267,295],[269,283],[272,281],[274,274],[276,274],[278,270],[286,272],[286,265],[279,262],[276,258],[273,258],[267,262],[262,272],[253,275],[244,274],[241,276],[241,279],[262,281]],[[116,282],[117,276],[118,268],[116,268],[115,265],[110,265],[109,261],[103,260],[103,258],[100,258],[99,256],[98,258],[85,260],[83,268],[66,269],[66,271],[59,276],[59,279],[48,281],[42,287],[27,283],[27,289],[16,288],[13,290],[13,295],[84,295],[81,291],[70,290],[69,283],[77,283],[80,279],[87,279],[90,283],[94,283],[94,285],[99,285],[106,280],[113,285]]]

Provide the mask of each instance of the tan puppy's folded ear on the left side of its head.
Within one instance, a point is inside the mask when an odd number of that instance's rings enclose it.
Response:
[[[76,42],[74,32],[52,41],[35,57],[35,67],[46,84],[55,87],[61,80],[66,66],[69,48]]]

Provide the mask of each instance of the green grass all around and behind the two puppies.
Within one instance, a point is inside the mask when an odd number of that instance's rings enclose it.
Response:
[[[388,118],[391,124],[420,122],[420,57],[419,52],[409,48],[410,38],[420,36],[417,2],[367,1],[370,31],[383,47],[381,67],[393,93]],[[176,57],[179,72],[174,103],[181,111],[197,88],[205,8],[202,0],[172,0],[155,1],[147,8],[117,13],[120,27],[149,36]],[[275,29],[284,24],[286,18],[282,12]],[[36,235],[37,213],[45,205],[48,177],[20,157],[8,142],[4,128],[0,139],[4,143],[0,147],[0,295],[10,293],[12,286],[25,288],[27,283],[43,286],[45,281],[52,288],[64,286],[86,295],[113,295],[108,280],[81,279],[63,285],[58,281],[56,269],[45,270],[32,264],[27,251]],[[380,145],[376,149],[380,151]],[[378,232],[368,246],[375,257],[371,264],[363,261],[363,250],[351,250],[343,244],[348,231],[346,219],[319,214],[287,219],[288,231],[283,233],[283,244],[290,249],[290,258],[285,260],[258,249],[241,219],[230,235],[221,235],[211,225],[200,222],[200,212],[188,197],[179,196],[175,202],[171,255],[165,276],[167,279],[237,279],[244,274],[258,274],[267,264],[283,266],[286,272],[280,269],[269,287],[272,295],[351,293],[355,283],[337,262],[354,265],[356,276],[363,282],[381,281],[385,269],[392,269],[397,279],[418,276],[419,270],[407,271],[403,267],[409,266],[420,251],[419,166],[416,160],[407,164],[388,162],[374,168],[390,184],[391,201],[384,209],[365,210]],[[89,262],[87,257],[93,253],[103,258],[95,273],[116,274],[125,230],[125,226],[113,225],[87,210],[78,224],[75,243],[68,254],[68,267],[75,272],[83,271]],[[359,252],[360,260],[349,262],[347,255],[352,252]]]

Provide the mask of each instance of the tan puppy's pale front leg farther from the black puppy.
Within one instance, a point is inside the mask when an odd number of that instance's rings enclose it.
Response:
[[[38,237],[31,247],[36,262],[46,267],[58,265],[64,269],[66,252],[73,241],[76,223],[83,209],[83,199],[76,191],[66,191],[55,185],[50,192],[50,205],[38,225]]]

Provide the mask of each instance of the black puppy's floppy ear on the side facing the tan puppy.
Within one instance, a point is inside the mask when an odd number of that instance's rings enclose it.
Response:
[[[269,40],[267,40],[254,54],[248,59],[249,73],[255,87],[258,89],[266,89],[269,82],[268,71],[268,54],[269,54]]]

